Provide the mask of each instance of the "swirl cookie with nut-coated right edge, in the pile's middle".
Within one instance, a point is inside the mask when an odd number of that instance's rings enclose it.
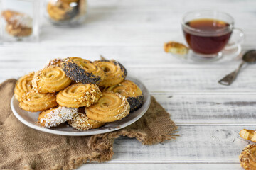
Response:
[[[99,100],[100,95],[96,84],[73,84],[57,94],[57,102],[69,108],[89,107]]]

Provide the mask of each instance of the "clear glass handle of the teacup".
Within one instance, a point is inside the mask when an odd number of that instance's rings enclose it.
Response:
[[[238,28],[233,28],[233,32],[231,34],[231,38],[228,42],[228,45],[225,46],[224,50],[233,50],[238,47],[238,45],[242,44],[245,40],[245,33]]]

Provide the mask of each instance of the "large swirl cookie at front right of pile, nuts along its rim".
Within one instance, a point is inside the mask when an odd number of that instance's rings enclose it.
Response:
[[[129,109],[129,103],[124,96],[113,92],[103,92],[97,103],[85,108],[85,113],[92,120],[114,122],[126,117]]]

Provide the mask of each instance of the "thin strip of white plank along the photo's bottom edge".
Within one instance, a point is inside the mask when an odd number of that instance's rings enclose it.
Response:
[[[190,170],[216,170],[216,169],[225,169],[225,170],[242,170],[240,164],[92,164],[87,163],[81,166],[78,170],[93,169],[93,170],[117,170],[122,168],[122,170],[127,169],[140,169],[140,170],[170,170],[170,169],[190,169]]]

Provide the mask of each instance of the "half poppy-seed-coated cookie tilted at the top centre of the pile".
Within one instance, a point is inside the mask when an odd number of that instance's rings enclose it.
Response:
[[[80,57],[68,57],[62,69],[70,79],[83,84],[99,84],[105,77],[100,67]]]

